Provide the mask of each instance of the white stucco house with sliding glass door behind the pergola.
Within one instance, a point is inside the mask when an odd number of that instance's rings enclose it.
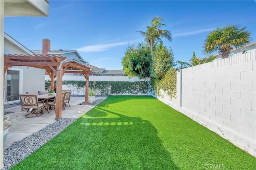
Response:
[[[4,33],[4,54],[34,53]],[[45,70],[28,66],[12,66],[5,74],[4,104],[19,102],[19,94],[45,90]]]

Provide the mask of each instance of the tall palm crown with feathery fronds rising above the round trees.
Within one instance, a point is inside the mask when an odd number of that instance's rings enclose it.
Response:
[[[151,55],[156,42],[162,43],[161,38],[167,38],[169,41],[172,41],[172,34],[168,30],[160,29],[162,26],[166,27],[164,21],[161,17],[156,16],[152,21],[150,26],[147,26],[147,31],[137,31],[143,37],[145,37],[145,41],[150,45]]]

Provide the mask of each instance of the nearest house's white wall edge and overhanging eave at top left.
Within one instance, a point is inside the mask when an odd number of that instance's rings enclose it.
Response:
[[[11,16],[49,16],[47,0],[0,0],[0,96],[4,96],[4,17]],[[18,29],[18,28],[17,28]],[[0,98],[0,108],[4,106],[4,98]],[[4,110],[0,109],[0,117]],[[3,119],[0,119],[0,168],[4,164]]]

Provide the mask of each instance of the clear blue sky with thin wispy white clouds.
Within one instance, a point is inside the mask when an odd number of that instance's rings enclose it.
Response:
[[[175,60],[187,62],[195,51],[202,55],[206,36],[219,26],[239,24],[256,41],[256,2],[253,1],[60,1],[50,0],[49,17],[5,17],[4,31],[30,50],[41,50],[42,39],[51,50],[78,50],[90,64],[122,69],[128,44],[144,38],[155,16],[161,16],[172,33]]]

